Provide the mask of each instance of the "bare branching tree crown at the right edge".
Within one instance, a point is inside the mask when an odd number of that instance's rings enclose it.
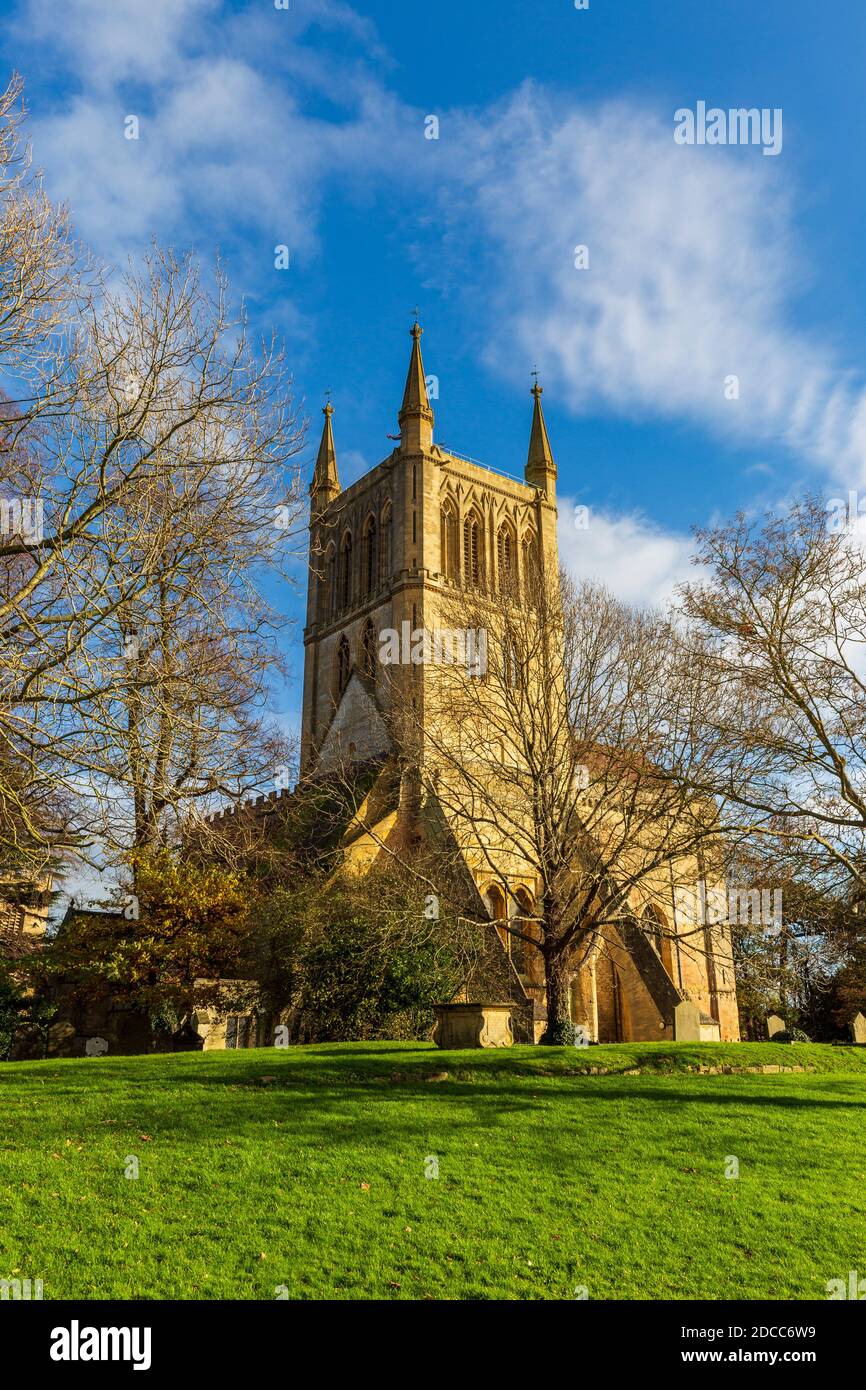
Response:
[[[706,578],[683,591],[691,639],[734,694],[717,737],[751,776],[719,783],[784,873],[866,897],[866,570],[819,498],[698,532]]]

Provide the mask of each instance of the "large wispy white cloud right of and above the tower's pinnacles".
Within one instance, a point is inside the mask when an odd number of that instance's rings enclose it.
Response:
[[[678,146],[637,104],[563,108],[531,86],[457,143],[495,272],[492,364],[537,360],[575,411],[687,418],[866,477],[863,378],[791,324],[809,247],[781,160]]]

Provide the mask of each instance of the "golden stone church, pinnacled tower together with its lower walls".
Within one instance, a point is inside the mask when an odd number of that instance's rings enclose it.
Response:
[[[385,763],[393,752],[389,734],[395,669],[379,663],[384,631],[400,634],[436,627],[461,587],[499,591],[503,570],[513,577],[539,564],[559,573],[556,539],[556,464],[542,409],[542,388],[532,388],[532,420],[524,478],[510,478],[434,442],[434,411],[421,359],[421,332],[411,328],[411,352],[399,443],[349,488],[341,488],[332,416],[324,430],[310,486],[310,578],[304,630],[302,780],[349,764]],[[407,671],[406,680],[411,680]],[[413,706],[424,701],[423,671],[413,687]],[[400,680],[399,673],[396,680]],[[406,691],[400,691],[400,698]],[[420,710],[424,726],[424,712]],[[399,815],[381,810],[386,838]],[[391,819],[388,819],[391,817]],[[356,835],[353,853],[375,859],[375,844]],[[514,881],[513,902],[489,874],[467,860],[478,909],[496,922],[530,912],[539,885]],[[694,877],[691,877],[694,874]],[[689,866],[687,880],[698,869]],[[520,878],[516,870],[514,880]],[[673,877],[669,888],[674,923]],[[701,949],[694,933],[676,935],[612,933],[573,981],[573,1019],[599,1041],[662,1041],[677,1031],[676,1011],[692,1009],[692,1037],[737,1038],[737,1005],[727,929],[714,929]],[[538,952],[518,956],[507,931],[495,934],[502,954],[502,986],[530,1019],[524,1036],[544,1027],[544,970]],[[689,944],[692,942],[692,944]],[[678,1036],[684,1036],[680,1033]]]

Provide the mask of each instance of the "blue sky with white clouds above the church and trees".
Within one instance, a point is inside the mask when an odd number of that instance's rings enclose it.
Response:
[[[418,304],[453,448],[518,474],[538,366],[563,555],[627,598],[688,571],[692,524],[866,486],[856,0],[3,13],[36,163],[79,234],[115,263],[152,234],[218,246],[286,339],[310,460],[332,391],[345,482],[391,449]],[[676,145],[699,100],[781,108],[781,153]]]

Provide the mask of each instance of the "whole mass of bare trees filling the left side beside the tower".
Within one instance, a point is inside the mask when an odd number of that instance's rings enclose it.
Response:
[[[0,855],[35,862],[146,842],[272,767],[263,581],[292,553],[303,428],[221,271],[209,291],[154,247],[108,286],[90,274],[28,175],[18,96],[0,100]],[[72,833],[35,813],[51,795],[78,805]]]

